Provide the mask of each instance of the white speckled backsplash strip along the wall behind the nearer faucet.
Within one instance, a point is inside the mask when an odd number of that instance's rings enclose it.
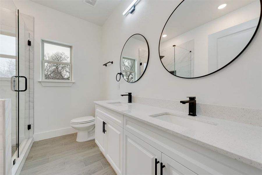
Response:
[[[188,105],[182,105],[180,101],[176,100],[154,99],[146,97],[133,97],[132,100],[134,103],[156,106],[186,113],[188,112]],[[197,103],[197,114],[249,125],[262,126],[261,109]]]

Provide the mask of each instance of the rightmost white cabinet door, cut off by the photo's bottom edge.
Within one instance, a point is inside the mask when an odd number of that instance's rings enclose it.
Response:
[[[162,153],[162,163],[165,166],[163,168],[163,175],[197,175],[190,169],[171,159],[164,153]]]

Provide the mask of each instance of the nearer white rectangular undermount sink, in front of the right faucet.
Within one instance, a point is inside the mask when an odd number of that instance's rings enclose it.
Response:
[[[215,127],[216,125],[218,125],[218,123],[199,119],[197,117],[181,116],[181,115],[172,114],[168,112],[149,115],[149,116],[157,118],[159,120],[169,122],[169,123],[173,123],[175,125],[186,127],[188,129],[194,129],[194,130],[202,130],[202,129],[206,130],[208,128],[211,129]]]

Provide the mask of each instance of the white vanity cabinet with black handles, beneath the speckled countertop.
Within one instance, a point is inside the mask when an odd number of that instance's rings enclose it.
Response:
[[[95,142],[118,175],[262,174],[175,134],[96,105]]]

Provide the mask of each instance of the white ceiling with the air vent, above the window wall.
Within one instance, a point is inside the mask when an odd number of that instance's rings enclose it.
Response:
[[[102,26],[120,0],[98,0],[95,7],[83,0],[31,0],[43,6]]]

